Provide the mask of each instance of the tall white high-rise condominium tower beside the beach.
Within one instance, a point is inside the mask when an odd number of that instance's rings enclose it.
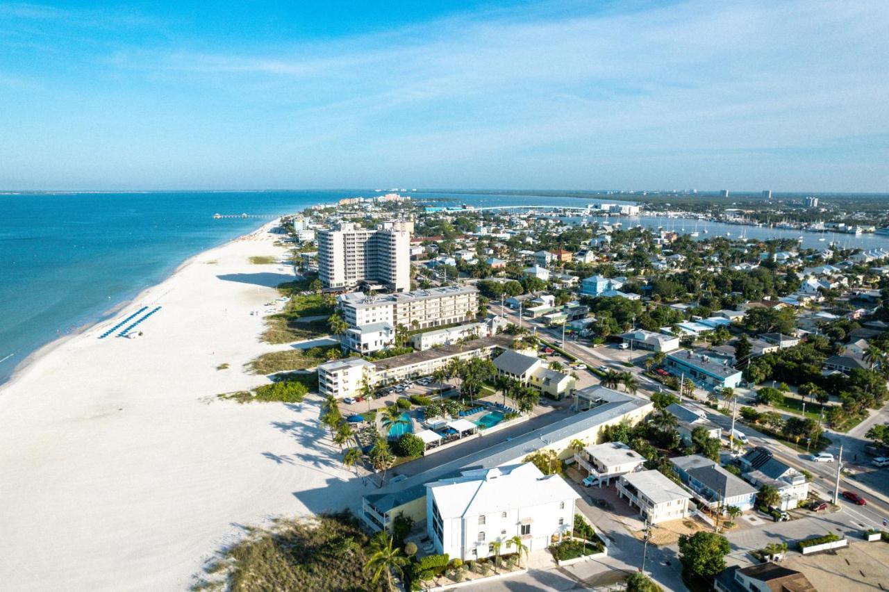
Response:
[[[404,228],[404,227],[401,227]],[[339,228],[318,233],[318,273],[325,288],[351,289],[361,282],[411,289],[411,233],[401,228]]]

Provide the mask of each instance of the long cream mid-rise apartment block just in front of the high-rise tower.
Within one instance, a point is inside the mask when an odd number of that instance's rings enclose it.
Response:
[[[352,292],[340,296],[340,309],[343,319],[352,327],[388,323],[411,330],[428,329],[474,319],[478,311],[478,289],[451,285],[382,296]]]

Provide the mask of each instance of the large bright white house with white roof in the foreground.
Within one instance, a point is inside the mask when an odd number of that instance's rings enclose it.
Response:
[[[531,462],[463,471],[426,484],[426,527],[436,553],[463,561],[512,553],[520,537],[529,553],[573,529],[580,498],[562,476],[544,476]]]

